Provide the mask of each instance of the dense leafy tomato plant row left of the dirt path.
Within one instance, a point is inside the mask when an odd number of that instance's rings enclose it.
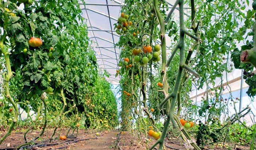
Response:
[[[21,121],[18,106],[30,122],[19,147],[38,139],[47,125],[55,128],[50,141],[65,121],[69,130],[117,125],[109,74],[98,72],[77,0],[0,0],[0,16],[0,126],[7,130],[0,144]],[[26,133],[38,126],[40,135],[28,141]]]

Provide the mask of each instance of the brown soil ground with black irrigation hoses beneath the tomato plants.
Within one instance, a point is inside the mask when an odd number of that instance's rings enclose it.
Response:
[[[51,143],[49,139],[53,129],[45,130],[43,136],[35,141],[35,143],[27,147],[27,149],[31,150],[54,150],[54,149],[66,149],[66,150],[146,150],[147,144],[146,140],[148,140],[148,147],[156,142],[155,139],[151,138],[143,138],[142,141],[135,138],[134,134],[130,134],[128,132],[122,133],[119,140],[117,135],[119,135],[120,131],[110,130],[110,131],[102,131],[98,132],[99,135],[96,136],[96,131],[88,131],[88,130],[79,130],[79,134],[76,138],[76,131],[73,136],[69,136],[66,140],[59,140],[57,136],[59,135],[59,131],[56,132],[56,139],[54,139]],[[65,135],[67,130],[62,129],[61,134]],[[3,132],[2,132],[3,133]],[[40,131],[32,131],[27,134],[27,140],[33,140],[40,134]],[[2,137],[3,134],[1,134]],[[132,136],[134,135],[134,136]],[[119,142],[117,142],[119,141]],[[12,133],[6,140],[0,145],[0,150],[12,150],[17,148],[18,145],[24,144],[23,132]],[[47,145],[47,146],[46,146]],[[119,145],[119,146],[118,146]],[[170,139],[166,140],[166,145],[169,148],[167,150],[186,150],[182,141],[178,139]],[[157,146],[158,148],[158,146]],[[217,148],[217,147],[206,147],[207,150],[226,150],[225,148]],[[247,146],[237,147],[235,150],[249,150],[250,148]]]

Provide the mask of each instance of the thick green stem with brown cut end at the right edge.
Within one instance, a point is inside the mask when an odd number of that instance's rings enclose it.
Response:
[[[240,60],[244,63],[250,62],[256,68],[256,23],[254,23],[252,30],[254,31],[254,47],[244,50],[240,55]]]

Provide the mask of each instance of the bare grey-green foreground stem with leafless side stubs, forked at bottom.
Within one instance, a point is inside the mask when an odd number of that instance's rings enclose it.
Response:
[[[159,12],[158,1],[154,0],[153,2],[154,2],[155,12],[157,13],[157,12]],[[177,74],[177,77],[176,77],[176,82],[175,82],[174,89],[173,89],[172,93],[169,94],[168,96],[166,96],[165,99],[159,105],[159,107],[162,108],[163,104],[165,104],[170,98],[172,98],[171,107],[169,108],[169,113],[168,113],[168,116],[167,116],[167,120],[165,121],[165,124],[164,124],[162,136],[161,136],[160,139],[157,140],[157,142],[153,146],[151,146],[150,150],[152,150],[157,144],[159,144],[159,150],[163,149],[164,139],[166,137],[170,121],[172,122],[174,128],[176,128],[176,123],[178,124],[178,127],[181,126],[181,124],[178,120],[178,116],[176,116],[174,114],[174,108],[175,108],[176,100],[178,98],[179,89],[180,89],[180,86],[181,86],[182,75],[184,74],[184,69],[187,69],[188,71],[190,71],[194,75],[197,75],[190,68],[188,68],[187,65],[185,65],[186,61],[185,61],[184,40],[185,40],[185,34],[194,38],[196,41],[199,41],[199,37],[196,37],[196,36],[190,34],[189,32],[185,31],[185,29],[184,29],[184,0],[177,0],[175,4],[176,5],[179,4],[179,19],[180,19],[180,38],[179,38],[178,45],[175,48],[176,51],[177,51],[177,49],[180,50],[180,53],[179,53],[180,54],[179,55],[180,56],[179,70],[178,70],[178,74]],[[174,7],[176,7],[176,5],[174,5]],[[171,14],[169,16],[171,16]],[[161,26],[161,23],[163,23],[163,22],[161,22],[161,19],[159,21],[159,18],[161,18],[161,14],[157,14],[157,17],[158,17],[158,22],[160,24],[160,29],[162,31],[162,30],[164,30],[164,26]],[[167,18],[166,20],[168,21],[168,19],[169,18]],[[171,56],[171,57],[173,58],[173,56]],[[168,61],[167,65],[169,65],[170,62],[171,62],[171,59]],[[191,139],[189,134],[187,133],[187,131],[184,128],[182,128],[181,131],[184,133],[185,137],[187,137],[188,139]],[[195,143],[191,143],[191,145],[193,145],[196,150],[200,150],[200,148]]]

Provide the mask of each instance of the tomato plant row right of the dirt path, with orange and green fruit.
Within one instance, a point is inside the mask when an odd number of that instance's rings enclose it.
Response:
[[[169,9],[165,0],[126,0],[115,24],[121,35],[118,46],[124,47],[118,64],[122,68],[117,70],[122,77],[122,130],[136,127],[139,137],[149,133],[158,139],[149,149],[157,144],[163,149],[166,136],[181,137],[197,150],[213,143],[231,144],[232,148],[238,140],[253,148],[255,126],[240,121],[251,114],[251,108],[239,112],[235,107],[239,98],[224,84],[234,67],[243,68],[250,85],[247,94],[255,96],[253,42],[246,42],[241,51],[236,48],[237,43],[254,35],[255,30],[248,30],[255,23],[255,10],[244,11],[249,6],[249,1],[238,0],[177,0]],[[167,35],[170,47],[166,46]],[[171,49],[169,58],[167,49]],[[217,78],[221,83],[215,83]],[[193,84],[198,89],[206,86],[200,106],[189,97]],[[228,98],[223,98],[225,90]],[[240,131],[239,126],[244,127],[246,136],[232,136],[233,131]],[[186,142],[192,137],[195,142]]]

